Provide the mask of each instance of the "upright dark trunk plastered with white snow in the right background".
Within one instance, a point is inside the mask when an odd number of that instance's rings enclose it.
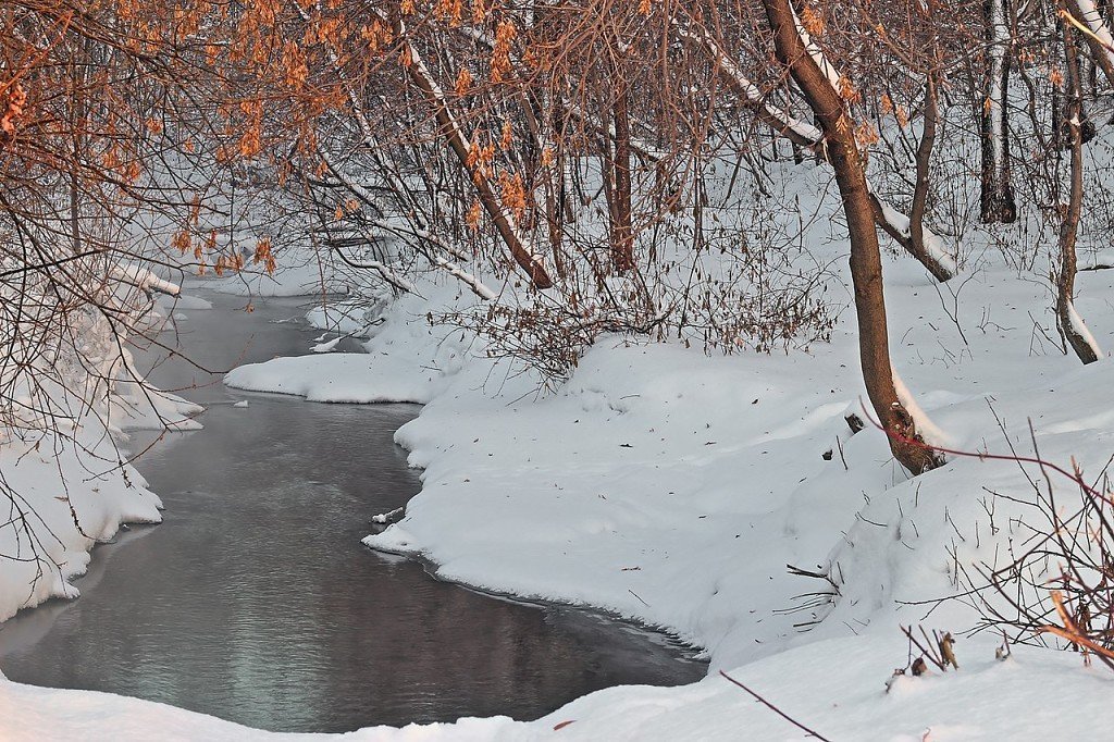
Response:
[[[985,0],[987,37],[986,99],[983,105],[983,169],[980,206],[985,224],[1009,224],[1017,219],[1014,186],[1009,180],[1010,40],[1007,0]]]

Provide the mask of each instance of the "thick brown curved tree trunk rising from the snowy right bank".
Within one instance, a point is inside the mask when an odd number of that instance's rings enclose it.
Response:
[[[843,197],[851,240],[851,280],[859,321],[859,357],[862,377],[874,414],[886,429],[890,450],[913,475],[942,462],[926,448],[912,417],[898,399],[890,367],[886,302],[882,294],[882,263],[878,232],[862,155],[854,138],[854,123],[843,99],[831,85],[801,38],[789,0],[763,0],[773,31],[778,60],[785,66],[804,94],[823,127],[828,162]]]

